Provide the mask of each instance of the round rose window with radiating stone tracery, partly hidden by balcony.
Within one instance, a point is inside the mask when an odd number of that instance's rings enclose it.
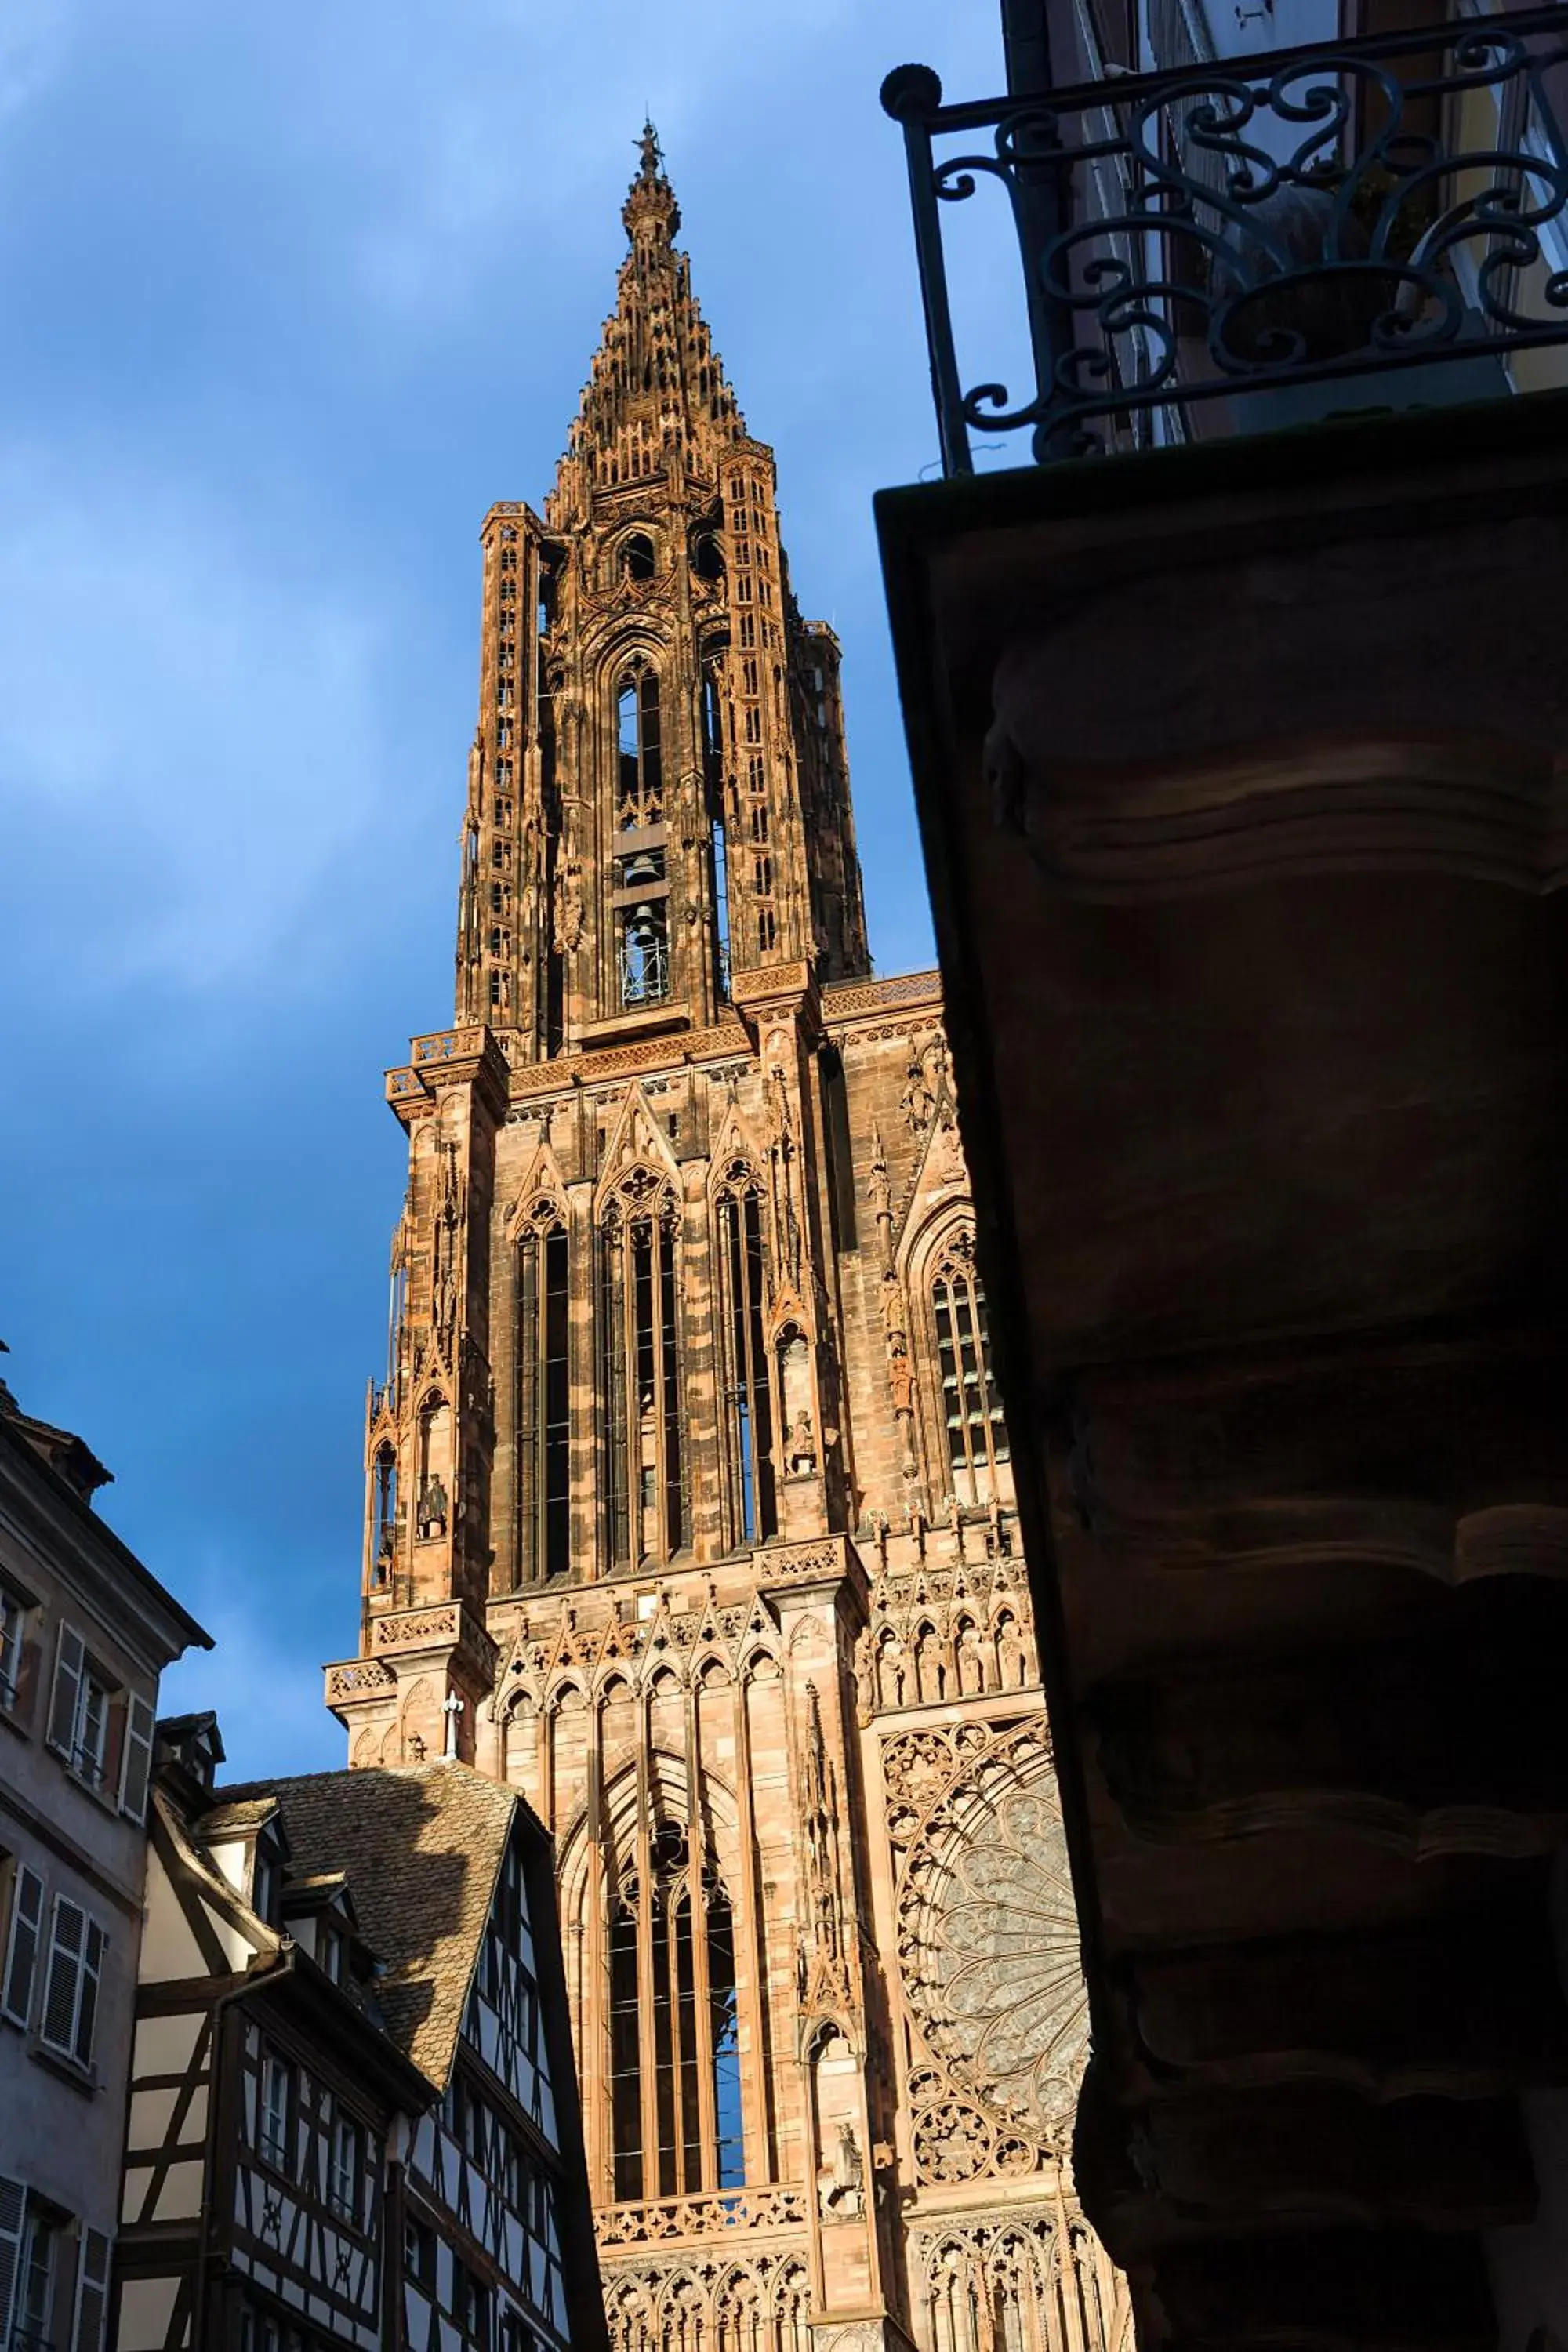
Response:
[[[1060,2143],[1088,2046],[1067,1842],[1039,1731],[959,1771],[900,1884],[910,2004],[997,2136]],[[1018,2159],[1018,2152],[1016,2152]]]

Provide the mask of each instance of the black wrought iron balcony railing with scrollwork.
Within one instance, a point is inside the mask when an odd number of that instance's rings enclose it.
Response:
[[[1516,388],[1568,343],[1566,92],[1563,5],[966,106],[898,66],[943,470],[973,433],[1079,456],[1441,360]],[[954,343],[943,216],[985,188],[1023,261],[1018,390],[966,383]]]

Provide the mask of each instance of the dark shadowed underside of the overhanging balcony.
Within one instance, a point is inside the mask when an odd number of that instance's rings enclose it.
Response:
[[[1145,2352],[1568,2333],[1566,449],[882,503]]]

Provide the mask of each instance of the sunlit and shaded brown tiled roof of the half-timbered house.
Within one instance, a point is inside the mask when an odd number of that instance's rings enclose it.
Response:
[[[386,2027],[444,2089],[517,1813],[512,1792],[468,1764],[404,1764],[252,1780],[216,1797],[221,1806],[275,1797],[294,1870],[348,1877],[360,1933],[386,1966],[376,1983]]]

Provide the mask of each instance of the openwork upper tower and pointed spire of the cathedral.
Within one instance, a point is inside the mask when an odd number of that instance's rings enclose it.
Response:
[[[543,517],[484,520],[456,1014],[552,1061],[867,969],[839,647],[804,621],[644,122],[628,252]]]

